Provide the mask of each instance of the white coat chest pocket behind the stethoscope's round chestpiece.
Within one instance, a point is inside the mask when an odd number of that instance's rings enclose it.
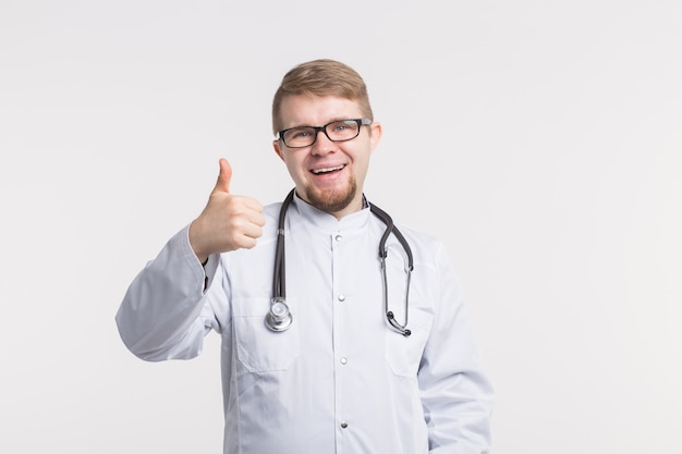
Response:
[[[249,372],[288,370],[299,356],[300,339],[295,302],[287,304],[294,321],[285,331],[268,329],[265,318],[269,298],[239,298],[232,302],[236,356]]]

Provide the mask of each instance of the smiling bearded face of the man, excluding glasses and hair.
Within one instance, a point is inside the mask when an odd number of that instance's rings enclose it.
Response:
[[[363,118],[356,101],[337,96],[290,96],[282,100],[283,130],[321,126],[337,120]],[[338,219],[363,208],[362,194],[369,156],[381,138],[381,125],[361,126],[360,135],[346,142],[331,142],[324,132],[315,144],[289,148],[272,143],[296,185],[296,194],[314,207]]]

